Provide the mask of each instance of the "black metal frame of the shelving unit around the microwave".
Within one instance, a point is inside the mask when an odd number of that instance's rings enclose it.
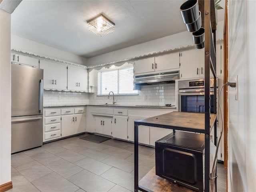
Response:
[[[134,192],[138,192],[138,190],[142,192],[152,192],[152,190],[145,188],[144,186],[140,186],[138,182],[138,126],[154,126],[160,128],[169,128],[175,130],[184,130],[189,132],[198,132],[203,133],[205,135],[205,169],[204,169],[204,192],[210,192],[210,180],[215,180],[215,191],[217,192],[217,180],[216,180],[216,171],[214,176],[210,176],[210,132],[212,127],[214,126],[214,144],[217,145],[217,122],[216,122],[216,113],[217,113],[217,88],[216,88],[216,21],[215,21],[215,7],[214,0],[200,0],[199,5],[201,4],[201,8],[203,6],[204,10],[201,12],[204,13],[204,28],[205,28],[205,72],[204,72],[204,87],[205,87],[205,113],[202,114],[202,119],[204,118],[204,125],[198,128],[191,128],[191,126],[184,126],[184,124],[172,124],[172,122],[168,123],[164,121],[164,115],[162,115],[162,122],[160,121],[160,116],[148,118],[145,120],[139,120],[134,122]],[[211,20],[212,16],[212,20]],[[215,26],[212,29],[212,23]],[[210,114],[210,72],[212,72],[214,76],[214,114]],[[206,107],[208,106],[208,107]],[[177,114],[178,112],[172,112]],[[180,112],[182,115],[186,114],[184,112]],[[167,116],[167,114],[166,114]],[[172,114],[169,114],[168,118],[175,118]],[[177,117],[176,117],[177,118]],[[184,119],[185,120],[185,119]],[[216,162],[214,162],[216,163]],[[171,191],[171,190],[170,190]],[[189,191],[189,190],[188,190]]]

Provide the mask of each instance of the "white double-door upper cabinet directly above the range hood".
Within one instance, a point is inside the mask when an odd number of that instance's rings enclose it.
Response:
[[[180,52],[144,58],[134,63],[134,74],[166,72],[180,68]]]

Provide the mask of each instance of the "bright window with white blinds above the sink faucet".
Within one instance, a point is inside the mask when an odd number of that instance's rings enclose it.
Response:
[[[133,67],[98,72],[98,95],[138,93],[133,87]]]

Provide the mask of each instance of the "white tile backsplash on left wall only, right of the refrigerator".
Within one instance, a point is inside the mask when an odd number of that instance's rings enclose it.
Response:
[[[88,103],[89,103],[88,93],[44,90],[44,106],[88,104]]]

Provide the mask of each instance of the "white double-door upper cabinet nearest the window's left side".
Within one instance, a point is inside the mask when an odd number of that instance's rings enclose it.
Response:
[[[68,90],[87,92],[87,69],[68,66]]]

